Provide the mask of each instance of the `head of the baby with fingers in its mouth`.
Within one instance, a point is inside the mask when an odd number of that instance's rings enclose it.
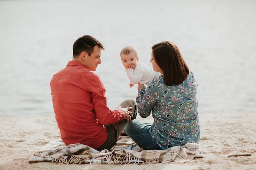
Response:
[[[131,64],[137,66],[137,62],[139,61],[139,57],[137,56],[137,51],[132,46],[126,46],[122,49],[121,60],[124,67],[127,69]]]

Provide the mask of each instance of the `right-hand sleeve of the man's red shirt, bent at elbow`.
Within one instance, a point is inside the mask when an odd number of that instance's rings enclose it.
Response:
[[[108,108],[105,96],[106,89],[99,76],[91,79],[90,88],[94,113],[100,124],[115,124],[124,119],[124,111],[122,109],[110,110]]]

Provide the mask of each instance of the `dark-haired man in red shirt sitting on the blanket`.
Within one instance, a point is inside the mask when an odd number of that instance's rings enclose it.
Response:
[[[66,145],[80,143],[109,150],[126,123],[137,115],[133,99],[125,100],[116,110],[108,108],[103,82],[92,72],[101,64],[103,49],[92,36],[80,37],[73,44],[72,61],[50,82],[56,121]]]

